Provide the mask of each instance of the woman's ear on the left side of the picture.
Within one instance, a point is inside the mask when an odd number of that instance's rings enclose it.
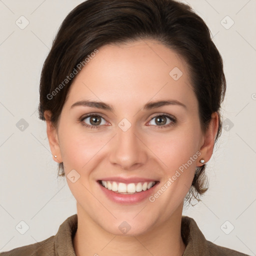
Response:
[[[44,118],[46,120],[46,125],[47,125],[46,132],[47,132],[47,136],[48,136],[50,151],[51,151],[51,154],[52,154],[52,158],[55,162],[62,162],[57,130],[52,125],[52,122],[50,121],[50,117],[51,117],[50,110],[45,110],[44,111]],[[56,157],[55,157],[55,155],[56,155]]]

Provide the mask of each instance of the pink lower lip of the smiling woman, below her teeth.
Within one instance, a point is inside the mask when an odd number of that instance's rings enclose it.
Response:
[[[146,198],[149,198],[149,196],[153,193],[155,187],[158,185],[159,182],[157,182],[155,185],[150,187],[149,189],[141,192],[136,192],[134,194],[119,194],[116,193],[112,190],[109,190],[102,186],[99,182],[97,182],[102,189],[102,191],[105,193],[105,195],[112,201],[117,202],[117,203],[125,203],[125,204],[130,204],[130,203],[138,203],[143,201]]]

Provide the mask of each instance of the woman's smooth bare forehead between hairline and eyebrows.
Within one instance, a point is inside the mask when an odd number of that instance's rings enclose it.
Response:
[[[185,61],[157,41],[139,40],[98,48],[75,76],[67,103],[94,99],[130,108],[170,98],[195,104]]]

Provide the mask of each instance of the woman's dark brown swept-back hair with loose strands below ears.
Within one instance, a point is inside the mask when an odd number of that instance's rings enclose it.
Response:
[[[76,6],[63,20],[43,64],[39,118],[45,120],[43,113],[50,110],[51,122],[57,127],[72,83],[65,79],[86,56],[105,44],[138,39],[157,40],[184,58],[199,103],[202,131],[206,131],[211,113],[219,116],[216,142],[226,90],[222,58],[204,21],[188,5],[174,0],[87,0]],[[63,163],[59,170],[64,176]],[[207,190],[204,172],[205,164],[196,167],[188,193],[195,198]]]

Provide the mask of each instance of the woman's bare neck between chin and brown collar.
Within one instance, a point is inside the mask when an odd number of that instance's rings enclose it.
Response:
[[[77,256],[154,255],[181,256],[185,245],[180,234],[182,205],[167,221],[141,235],[114,235],[95,223],[77,203],[77,230],[73,238]]]

